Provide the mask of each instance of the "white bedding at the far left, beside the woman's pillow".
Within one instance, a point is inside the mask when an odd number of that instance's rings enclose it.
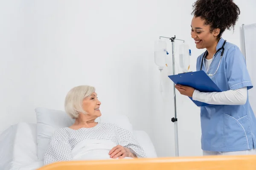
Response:
[[[38,160],[36,125],[20,122],[0,135],[0,169],[16,170]]]

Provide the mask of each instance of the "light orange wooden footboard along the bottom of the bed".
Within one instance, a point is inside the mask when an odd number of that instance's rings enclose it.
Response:
[[[38,170],[256,170],[256,155],[67,161]]]

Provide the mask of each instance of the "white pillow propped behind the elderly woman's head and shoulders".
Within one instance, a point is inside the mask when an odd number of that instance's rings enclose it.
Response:
[[[71,119],[70,116],[68,116],[64,111],[47,108],[35,108],[35,112],[37,117],[38,160],[42,161],[44,160],[44,152],[53,132],[59,128],[73,125],[75,120]],[[133,133],[132,125],[128,117],[125,115],[102,114],[102,116],[99,119],[96,119],[96,121],[113,123]]]

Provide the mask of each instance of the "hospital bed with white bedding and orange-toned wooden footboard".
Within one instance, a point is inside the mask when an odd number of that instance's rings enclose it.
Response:
[[[38,151],[42,147],[41,139],[49,136],[48,132],[62,123],[66,124],[67,119],[60,117],[58,111],[52,113],[47,109],[38,109],[36,112],[37,123],[21,122],[0,134],[0,170],[256,170],[256,156],[157,158],[151,139],[143,130],[133,130],[133,133],[143,146],[148,156],[146,159],[67,161],[44,166],[43,161],[38,158]],[[59,113],[63,114],[61,111]],[[52,117],[54,115],[57,116]],[[116,123],[126,124],[129,129],[125,119],[120,116]],[[109,120],[112,121],[112,118]],[[104,122],[109,120],[105,119]],[[53,124],[56,127],[52,127]],[[42,133],[38,130],[40,128],[46,131]],[[38,139],[40,134],[41,139]]]

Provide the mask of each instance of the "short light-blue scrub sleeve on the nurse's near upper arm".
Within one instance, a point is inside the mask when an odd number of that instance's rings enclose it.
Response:
[[[245,58],[237,46],[227,52],[225,64],[230,90],[243,87],[247,87],[248,90],[253,88]]]

